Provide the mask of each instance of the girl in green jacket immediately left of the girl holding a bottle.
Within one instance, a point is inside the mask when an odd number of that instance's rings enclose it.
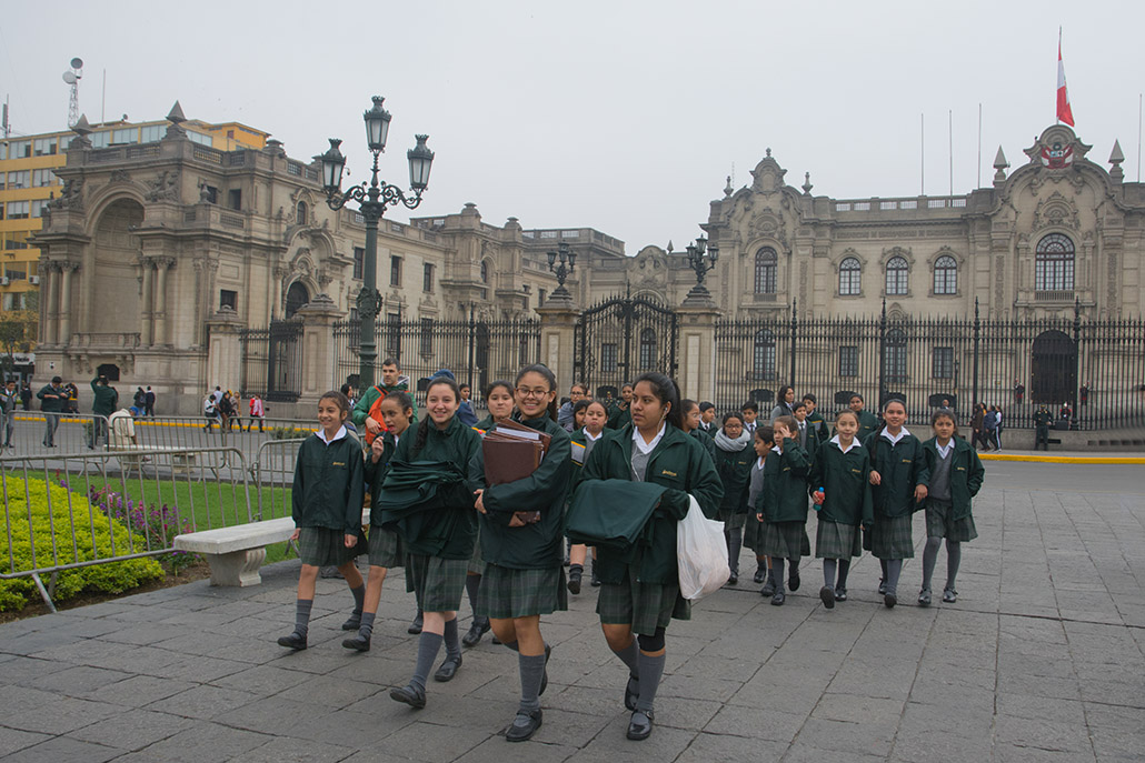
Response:
[[[791,564],[788,586],[799,590],[799,553],[807,526],[807,469],[811,461],[799,447],[798,429],[792,416],[780,416],[772,423],[775,446],[764,462],[764,490],[757,499],[756,517],[766,522],[764,553],[772,557],[772,604],[787,601],[783,591],[783,561]]]

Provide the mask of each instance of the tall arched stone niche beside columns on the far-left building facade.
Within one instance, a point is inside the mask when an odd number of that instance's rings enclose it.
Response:
[[[132,231],[142,222],[139,201],[118,199],[95,225],[87,324],[98,326],[100,333],[140,332],[140,245]]]

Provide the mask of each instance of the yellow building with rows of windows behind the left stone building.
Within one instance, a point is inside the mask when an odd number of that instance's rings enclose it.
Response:
[[[133,143],[156,143],[167,129],[166,120],[113,121],[92,126],[95,149]],[[269,133],[239,122],[183,122],[195,143],[220,151],[262,149]],[[29,239],[42,228],[48,201],[58,197],[62,183],[55,168],[66,164],[71,130],[0,140],[0,313],[37,310],[40,251]],[[34,335],[34,332],[32,332]]]

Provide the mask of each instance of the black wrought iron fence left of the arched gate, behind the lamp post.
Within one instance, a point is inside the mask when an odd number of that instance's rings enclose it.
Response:
[[[358,387],[361,323],[334,324],[334,386]],[[376,326],[379,365],[398,363],[411,390],[440,368],[469,384],[475,407],[483,407],[482,390],[498,379],[512,380],[521,366],[540,358],[540,321],[528,318],[483,320],[469,311],[466,320],[403,319],[392,313]],[[376,371],[377,377],[377,371]]]

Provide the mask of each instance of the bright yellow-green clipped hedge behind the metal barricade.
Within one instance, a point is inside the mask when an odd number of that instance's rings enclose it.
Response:
[[[27,488],[31,500],[25,493],[22,477],[3,475],[3,498],[6,499],[6,518],[11,534],[3,556],[0,557],[0,571],[3,573],[22,572],[32,567],[32,539],[29,537],[29,512],[32,516],[32,532],[35,539],[35,559],[40,567],[53,565],[52,526],[56,528],[56,551],[60,564],[72,564],[89,559],[109,558],[112,553],[114,537],[114,554],[131,554],[131,543],[135,551],[147,549],[147,541],[140,534],[128,540],[127,527],[103,514],[98,507],[92,508],[85,495],[70,493],[64,485],[49,485],[42,479],[29,479]],[[48,495],[50,491],[50,512]],[[76,546],[72,546],[72,532]],[[94,538],[94,548],[93,548]],[[89,567],[65,570],[56,580],[53,596],[55,602],[64,602],[85,591],[102,591],[120,594],[150,580],[164,577],[163,567],[152,558],[126,559],[109,562]],[[45,580],[47,585],[47,580]],[[35,582],[30,578],[0,580],[0,612],[22,610],[29,601],[38,599]]]

